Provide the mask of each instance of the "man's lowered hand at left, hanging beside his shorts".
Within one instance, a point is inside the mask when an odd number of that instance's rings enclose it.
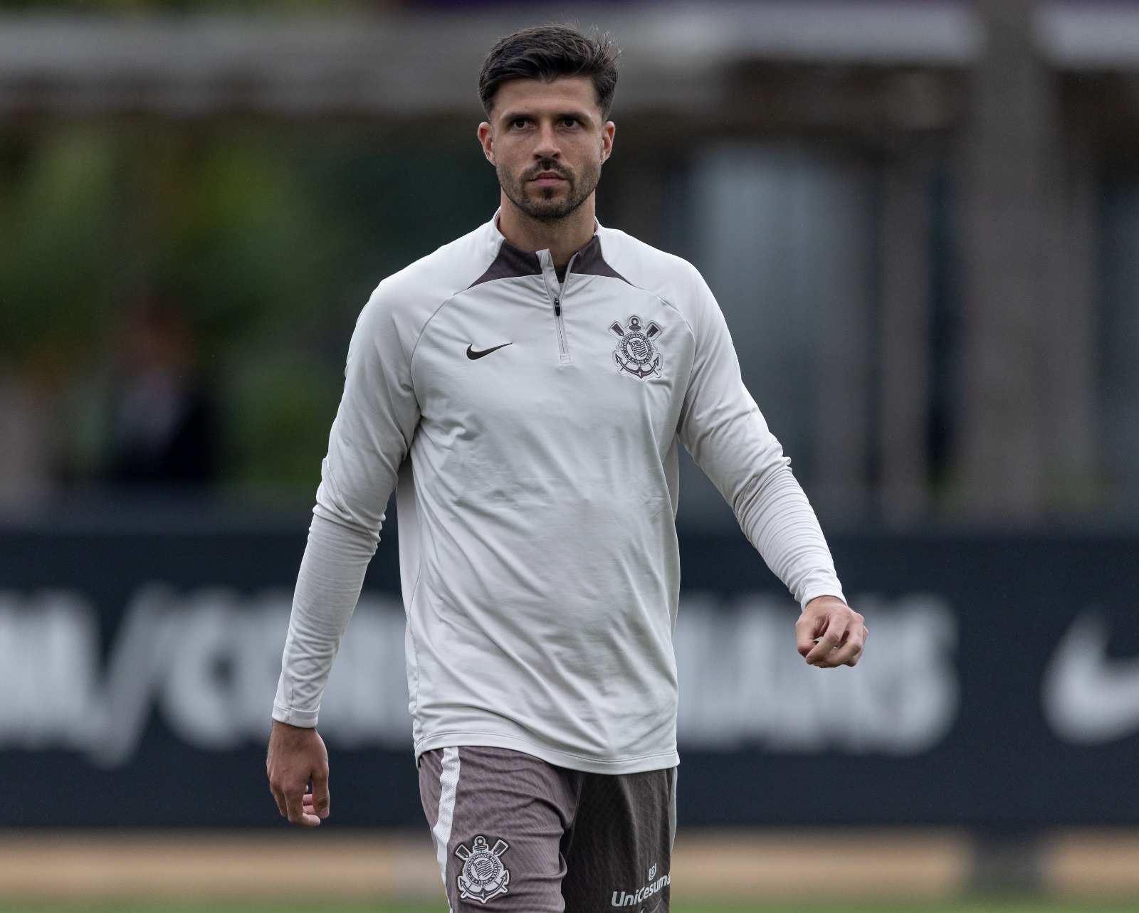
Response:
[[[328,751],[317,730],[274,719],[265,771],[284,817],[302,828],[316,828],[328,817]],[[310,782],[311,793],[305,792]]]

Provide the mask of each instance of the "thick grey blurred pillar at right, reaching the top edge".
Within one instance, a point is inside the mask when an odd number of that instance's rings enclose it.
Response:
[[[1031,521],[1044,501],[1058,114],[1036,6],[976,0],[986,41],[966,137],[957,494],[967,516],[989,521]]]

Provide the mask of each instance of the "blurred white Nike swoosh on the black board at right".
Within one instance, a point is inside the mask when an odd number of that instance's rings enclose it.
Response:
[[[1103,616],[1085,611],[1052,653],[1043,710],[1052,731],[1075,745],[1106,745],[1139,732],[1139,657],[1109,659]]]

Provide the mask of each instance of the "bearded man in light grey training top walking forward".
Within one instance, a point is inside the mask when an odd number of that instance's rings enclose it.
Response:
[[[806,661],[854,665],[866,639],[699,273],[593,217],[615,87],[612,46],[572,28],[491,50],[501,208],[361,313],[297,579],[268,767],[281,814],[314,825],[320,694],[395,488],[452,911],[667,910],[678,441],[805,607]]]

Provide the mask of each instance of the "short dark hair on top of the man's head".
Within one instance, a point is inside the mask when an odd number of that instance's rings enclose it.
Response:
[[[570,25],[523,28],[499,39],[483,60],[478,98],[490,117],[494,96],[503,82],[552,82],[560,76],[592,79],[601,117],[608,118],[617,91],[617,48],[608,35],[583,35]]]

